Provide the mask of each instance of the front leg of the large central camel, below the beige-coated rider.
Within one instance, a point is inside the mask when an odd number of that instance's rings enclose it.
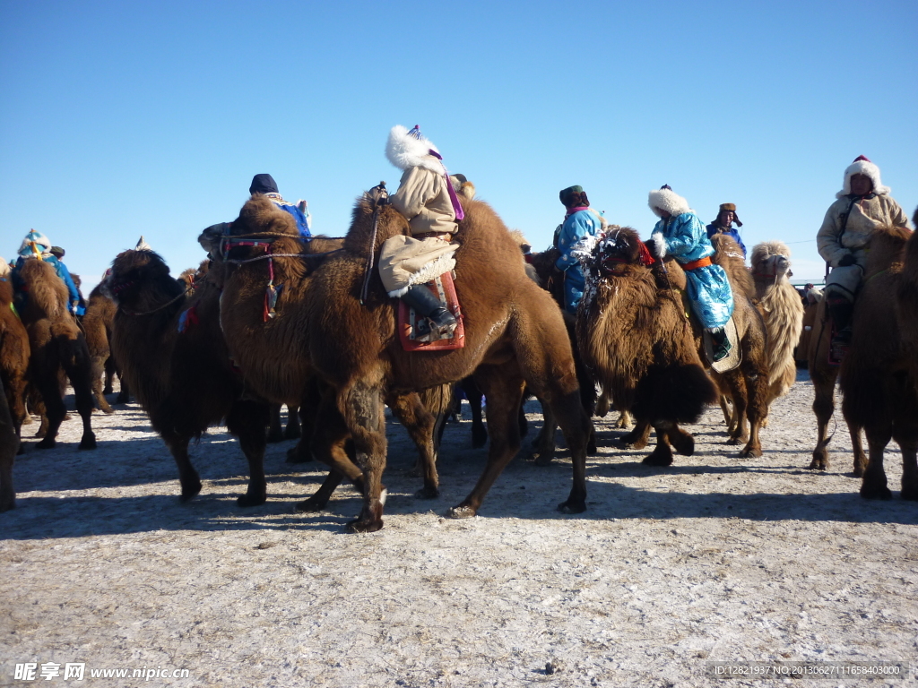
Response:
[[[379,382],[358,379],[338,393],[338,410],[351,431],[357,462],[364,472],[364,508],[347,525],[352,533],[372,533],[383,527],[386,416]]]

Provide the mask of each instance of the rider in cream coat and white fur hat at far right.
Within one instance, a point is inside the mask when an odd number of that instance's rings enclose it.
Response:
[[[890,196],[890,188],[880,183],[879,167],[863,155],[845,169],[844,188],[835,197],[816,246],[833,268],[823,293],[835,326],[833,355],[840,359],[851,343],[851,316],[867,269],[870,238],[879,227],[908,227],[908,218]]]

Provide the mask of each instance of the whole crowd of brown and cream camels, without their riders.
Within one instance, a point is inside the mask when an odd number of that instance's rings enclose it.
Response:
[[[409,234],[383,186],[356,202],[343,239],[300,239],[292,216],[255,194],[232,223],[202,233],[207,261],[179,279],[152,250],[126,250],[89,295],[82,322],[69,313],[66,289],[47,263],[23,267],[28,299],[19,312],[11,307],[9,275],[0,273],[0,511],[15,505],[14,456],[30,416],[41,417],[34,449],[53,448],[69,379],[83,420],[80,449],[95,449],[92,413],[95,406],[113,412],[106,394],[116,369],[116,403],[130,394],[150,416],[178,467],[182,499],[201,490],[189,441],[226,425],[249,461],[239,505],[263,504],[265,444],[284,437],[278,409],[287,405],[287,436],[299,436],[288,461],[315,458],[330,469],[297,510],[324,508],[346,480],[364,499],[348,524],[354,532],[383,526],[385,405],[417,445],[418,495],[439,494],[437,449],[457,385],[475,390],[467,394],[471,401],[487,398],[487,435],[476,426],[476,444],[489,441],[485,471],[449,511],[457,518],[475,516],[521,449],[524,394],[543,406],[543,431],[533,443],[538,463],[552,460],[555,427],[564,432],[573,464],[570,494],[558,506],[566,513],[587,508],[587,456],[596,449],[591,417],[610,403],[633,418],[623,446],[642,449],[655,430],[645,463],[667,466],[674,452],[690,455],[694,438],[680,424],[717,403],[726,443],[742,445],[738,458],[762,455],[768,407],[796,377],[804,316],[788,280],[787,247],[759,244],[750,270],[733,239],[714,237],[713,260],[733,287],[740,355],[732,369],[713,370],[689,316],[685,273],[671,258],[648,260],[633,229],[604,227],[585,262],[588,289],[572,317],[558,305],[554,250],[525,256],[520,234],[474,190],[465,190],[463,205],[454,283],[465,345],[456,350],[401,346],[396,300],[368,261],[386,239]],[[840,366],[830,364],[825,306],[813,308],[803,338],[819,432],[810,468],[828,467],[837,378],[860,494],[890,497],[883,452],[891,438],[901,448],[901,496],[918,500],[918,239],[901,228],[872,239],[854,340]]]

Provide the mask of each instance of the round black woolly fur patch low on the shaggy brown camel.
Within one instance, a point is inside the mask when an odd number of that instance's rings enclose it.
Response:
[[[638,383],[634,416],[651,421],[695,423],[705,405],[717,401],[717,389],[695,363],[653,367]]]

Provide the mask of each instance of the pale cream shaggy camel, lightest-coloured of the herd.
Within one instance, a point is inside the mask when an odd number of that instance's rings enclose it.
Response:
[[[788,280],[790,250],[780,241],[756,244],[752,250],[752,276],[756,304],[767,334],[767,404],[788,393],[797,379],[794,347],[803,328],[803,302]]]

